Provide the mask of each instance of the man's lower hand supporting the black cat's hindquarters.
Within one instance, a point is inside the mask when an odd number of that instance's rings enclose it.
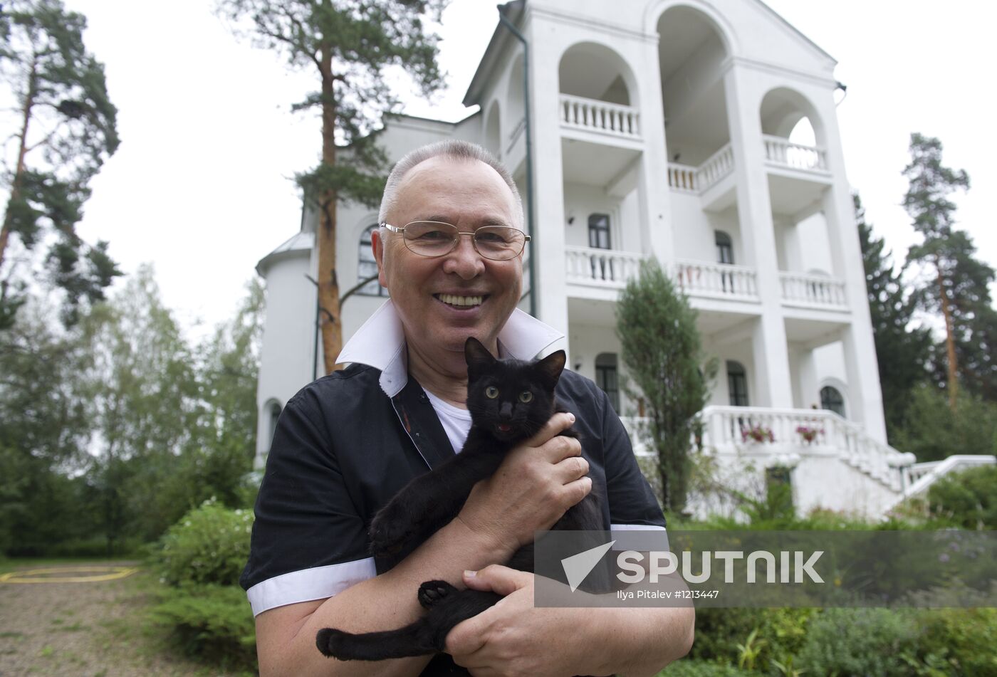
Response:
[[[577,675],[584,672],[570,629],[578,609],[533,606],[533,574],[493,564],[466,572],[470,588],[503,595],[498,604],[459,623],[447,653],[475,677]]]

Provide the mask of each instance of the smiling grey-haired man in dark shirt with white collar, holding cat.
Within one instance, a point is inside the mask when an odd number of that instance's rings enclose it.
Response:
[[[522,206],[507,171],[484,150],[445,142],[409,154],[388,178],[379,220],[372,244],[391,300],[339,356],[349,369],[287,403],[267,461],[242,578],[257,614],[261,674],[446,674],[447,656],[337,662],[315,647],[323,627],[367,632],[411,622],[422,611],[416,590],[430,579],[506,595],[447,638],[453,660],[476,675],[655,674],[688,651],[692,609],[534,608],[532,574],[496,564],[593,482],[607,497],[607,528],[664,527],[605,395],[577,375],[565,372],[558,386],[577,422],[555,415],[476,486],[456,519],[394,568],[379,570],[369,556],[371,517],[463,445],[467,338],[520,359],[560,338],[515,309]],[[456,226],[451,248],[422,246],[414,239],[420,221]],[[517,250],[489,249],[496,228],[516,229]],[[584,454],[578,441],[557,436],[572,423],[587,440]]]

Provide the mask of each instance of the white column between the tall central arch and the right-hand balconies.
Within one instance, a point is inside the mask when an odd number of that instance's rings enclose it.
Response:
[[[779,258],[759,117],[762,88],[757,78],[757,74],[736,65],[724,75],[737,181],[738,217],[748,258],[746,265],[757,270],[758,292],[762,299],[762,316],[752,340],[755,359],[753,390],[759,406],[792,408],[793,387],[783,321]]]

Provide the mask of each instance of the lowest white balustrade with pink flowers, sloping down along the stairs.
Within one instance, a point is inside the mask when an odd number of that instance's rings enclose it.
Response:
[[[822,451],[895,491],[901,490],[902,455],[878,442],[855,424],[826,410],[768,409],[762,407],[707,407],[700,414],[704,448],[720,453],[774,455],[792,449],[806,456]],[[772,432],[772,441],[758,442],[751,432]],[[805,432],[808,431],[808,432]],[[813,435],[808,441],[805,436]]]

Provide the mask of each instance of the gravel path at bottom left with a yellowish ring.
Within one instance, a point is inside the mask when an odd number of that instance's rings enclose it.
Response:
[[[87,562],[138,566],[138,562]],[[56,568],[71,564],[15,567]],[[50,574],[60,575],[60,574]],[[90,574],[83,574],[90,575]],[[141,568],[126,578],[88,582],[0,582],[0,676],[172,677],[228,675],[173,653],[145,621],[151,584]]]

